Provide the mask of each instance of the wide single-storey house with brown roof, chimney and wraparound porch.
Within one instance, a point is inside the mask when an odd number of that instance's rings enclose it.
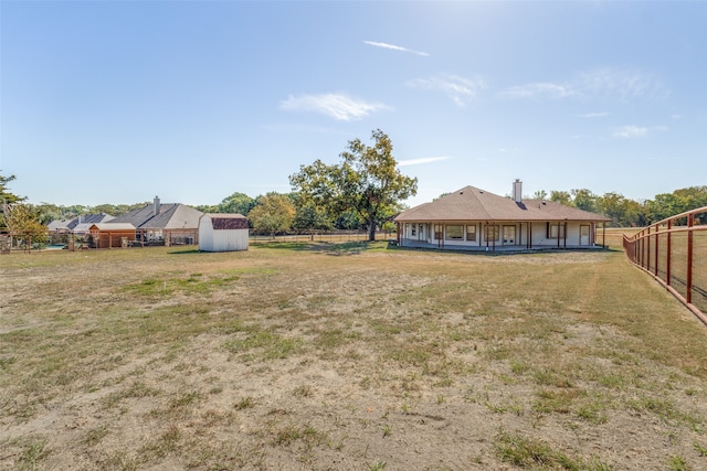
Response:
[[[398,244],[469,250],[593,247],[598,224],[611,220],[546,200],[523,200],[465,186],[403,211],[395,218]]]

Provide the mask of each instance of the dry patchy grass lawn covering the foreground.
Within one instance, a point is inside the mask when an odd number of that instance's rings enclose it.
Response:
[[[707,469],[707,328],[618,250],[45,251],[0,276],[0,469]]]

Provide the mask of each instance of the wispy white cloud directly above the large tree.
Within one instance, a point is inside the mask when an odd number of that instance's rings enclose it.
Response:
[[[316,111],[338,121],[354,121],[371,113],[390,109],[381,103],[368,103],[341,94],[289,96],[281,104],[282,109]]]

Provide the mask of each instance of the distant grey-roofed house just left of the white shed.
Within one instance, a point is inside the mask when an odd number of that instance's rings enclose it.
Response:
[[[118,216],[108,224],[133,224],[137,240],[145,245],[193,245],[199,242],[199,217],[202,214],[186,204],[161,203],[155,196],[151,204]]]

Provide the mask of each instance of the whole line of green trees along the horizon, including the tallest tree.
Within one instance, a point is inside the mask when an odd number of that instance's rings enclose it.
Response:
[[[377,129],[371,139],[372,146],[360,139],[349,141],[339,164],[327,165],[317,160],[302,165],[289,176],[293,188],[289,193],[270,192],[251,197],[235,192],[219,204],[194,207],[204,213],[240,213],[260,233],[363,229],[372,239],[378,228],[393,229],[392,218],[405,208],[401,202],[416,194],[418,180],[400,173],[392,154],[392,142],[384,132]],[[27,197],[10,191],[8,184],[13,180],[15,175],[0,174],[0,231],[22,229],[39,234],[55,220],[91,213],[119,216],[149,204],[32,205],[24,203]],[[600,214],[611,218],[611,225],[615,227],[643,227],[707,206],[707,185],[679,189],[645,201],[631,200],[616,192],[597,195],[588,189],[549,193],[542,190],[530,197]]]

